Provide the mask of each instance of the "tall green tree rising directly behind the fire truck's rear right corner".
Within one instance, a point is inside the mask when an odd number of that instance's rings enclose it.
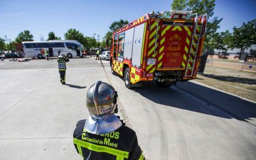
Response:
[[[214,34],[216,34],[217,29],[220,27],[219,23],[222,19],[218,17],[212,17],[214,15],[215,0],[174,0],[172,3],[172,10],[192,10],[193,13],[198,15],[207,14],[207,32],[205,45],[206,47],[212,47],[214,42]]]

